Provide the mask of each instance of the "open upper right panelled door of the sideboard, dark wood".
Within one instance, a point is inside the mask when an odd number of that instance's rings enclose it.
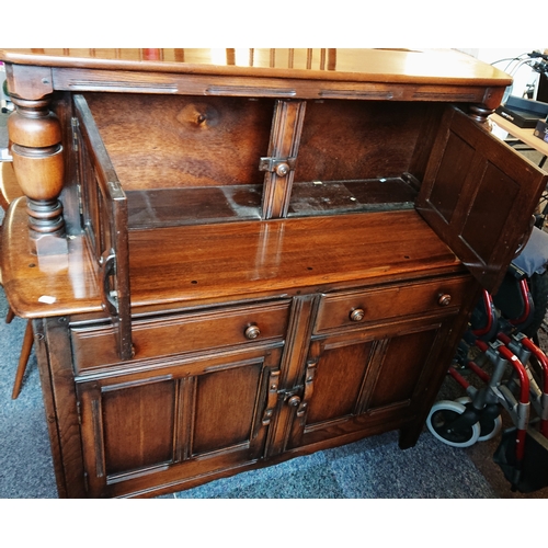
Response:
[[[447,107],[416,208],[491,293],[499,288],[548,176],[473,122]]]

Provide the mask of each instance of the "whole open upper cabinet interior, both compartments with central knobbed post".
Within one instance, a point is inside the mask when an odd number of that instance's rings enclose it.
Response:
[[[137,93],[76,94],[75,107],[130,229],[412,208],[438,117],[422,102]]]

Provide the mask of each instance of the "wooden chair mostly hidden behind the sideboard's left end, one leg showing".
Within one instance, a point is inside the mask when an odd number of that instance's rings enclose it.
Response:
[[[15,179],[15,173],[13,172],[13,165],[11,162],[0,163],[0,206],[4,212],[8,210],[10,203],[19,196],[22,196],[21,190],[19,189],[18,181]],[[0,224],[0,258],[2,256],[2,225]],[[2,285],[2,262],[0,260],[0,285]],[[8,315],[5,317],[5,323],[10,323],[13,320],[14,313],[11,308],[8,309]],[[15,373],[15,381],[13,384],[12,399],[16,399],[21,392],[21,386],[23,384],[23,376],[26,370],[26,365],[28,363],[28,357],[31,356],[31,351],[33,347],[33,328],[32,322],[28,320],[26,322],[25,334],[23,338],[23,347],[21,349],[21,354],[19,357],[18,370]]]

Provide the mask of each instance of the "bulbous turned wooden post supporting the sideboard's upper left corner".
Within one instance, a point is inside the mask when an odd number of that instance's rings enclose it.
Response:
[[[67,253],[59,194],[64,184],[61,129],[48,100],[12,96],[16,111],[8,119],[13,169],[27,198],[31,252]]]

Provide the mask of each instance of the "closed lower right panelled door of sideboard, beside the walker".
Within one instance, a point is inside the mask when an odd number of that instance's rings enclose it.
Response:
[[[408,320],[385,328],[317,338],[310,345],[302,398],[287,448],[359,431],[393,430],[418,418],[422,392],[455,317]]]

